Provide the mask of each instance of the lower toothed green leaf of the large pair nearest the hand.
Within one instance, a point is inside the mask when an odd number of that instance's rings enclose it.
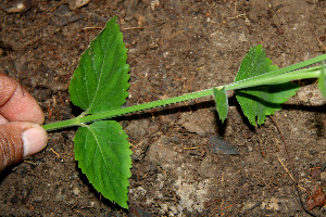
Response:
[[[79,127],[75,136],[75,158],[97,191],[128,208],[128,178],[131,151],[128,136],[115,120]]]

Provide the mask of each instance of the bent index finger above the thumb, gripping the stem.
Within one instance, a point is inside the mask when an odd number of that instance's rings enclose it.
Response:
[[[0,115],[9,122],[42,124],[45,115],[28,91],[15,79],[0,73]]]

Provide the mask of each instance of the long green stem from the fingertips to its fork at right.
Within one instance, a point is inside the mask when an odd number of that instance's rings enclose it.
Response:
[[[317,61],[319,61],[321,56],[317,56],[315,59]],[[324,55],[324,59],[326,59],[326,55]],[[312,59],[312,60],[314,60],[314,59]],[[302,62],[300,64],[294,64],[292,66],[288,66],[288,67],[286,67],[287,69],[281,68],[281,69],[274,71],[274,72],[271,72],[267,74],[263,74],[261,76],[256,76],[253,78],[233,82],[233,84],[226,85],[225,87],[226,87],[226,90],[236,90],[236,89],[255,87],[255,86],[261,86],[261,85],[273,85],[273,84],[287,82],[287,81],[296,80],[296,79],[317,78],[321,75],[321,71],[322,71],[321,66],[304,68],[304,69],[287,73],[289,71],[298,69],[300,67],[304,67],[306,65],[315,63],[312,60]],[[316,60],[314,60],[314,61],[316,61]],[[116,116],[121,116],[121,115],[125,115],[125,114],[129,114],[129,113],[134,113],[134,112],[150,110],[150,108],[154,108],[154,107],[159,107],[159,106],[164,106],[167,104],[184,102],[184,101],[203,98],[203,97],[208,97],[208,95],[212,95],[212,94],[213,94],[213,88],[184,94],[184,95],[179,95],[179,97],[175,97],[175,98],[158,100],[158,101],[148,102],[148,103],[143,103],[143,104],[138,104],[138,105],[122,107],[122,108],[117,108],[117,110],[113,110],[113,111],[102,112],[102,113],[98,113],[98,114],[93,114],[93,115],[87,115],[87,116],[79,115],[78,117],[75,117],[72,119],[43,125],[43,128],[48,131],[51,131],[51,130],[72,127],[72,126],[82,126],[87,123],[92,123],[96,120],[109,119],[112,117],[116,117]]]

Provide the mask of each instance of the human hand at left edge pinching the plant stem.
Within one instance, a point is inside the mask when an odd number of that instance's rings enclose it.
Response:
[[[27,90],[0,73],[0,171],[45,149],[43,122],[40,106]]]

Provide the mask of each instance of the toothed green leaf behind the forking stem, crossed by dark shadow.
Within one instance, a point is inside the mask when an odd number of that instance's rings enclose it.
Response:
[[[277,66],[272,65],[272,61],[266,58],[262,46],[250,49],[244,56],[235,81],[253,78],[272,71]],[[273,115],[279,111],[280,104],[296,94],[299,87],[291,82],[264,85],[243,90],[236,90],[237,100],[242,108],[243,114],[249,122],[255,126],[264,124],[267,115]]]

